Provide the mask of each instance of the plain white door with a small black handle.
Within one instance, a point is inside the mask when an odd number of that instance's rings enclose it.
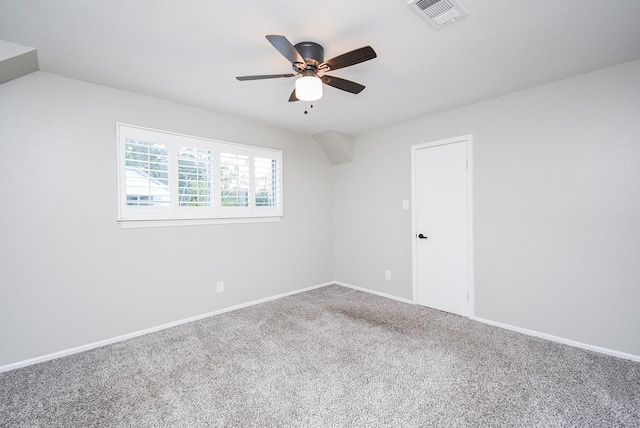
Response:
[[[471,136],[413,147],[414,300],[469,316]]]

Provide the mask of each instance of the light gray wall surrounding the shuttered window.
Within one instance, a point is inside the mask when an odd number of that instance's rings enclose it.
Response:
[[[120,229],[116,122],[283,150],[284,218]],[[0,85],[0,144],[0,366],[333,280],[308,136],[36,72]]]

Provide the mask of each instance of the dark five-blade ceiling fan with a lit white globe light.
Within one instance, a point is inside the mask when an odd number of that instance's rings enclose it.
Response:
[[[325,73],[369,61],[377,56],[371,46],[365,46],[325,61],[324,48],[318,43],[300,42],[292,45],[285,36],[269,35],[266,37],[273,47],[291,62],[294,73],[238,76],[236,79],[243,81],[301,76],[296,80],[295,89],[289,97],[290,102],[320,99],[323,83],[352,94],[359,94],[365,88],[363,85],[339,77],[328,76]]]

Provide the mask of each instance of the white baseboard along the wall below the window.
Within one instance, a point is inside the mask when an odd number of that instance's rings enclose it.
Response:
[[[54,360],[56,358],[66,357],[67,355],[73,355],[73,354],[77,354],[77,353],[80,353],[80,352],[89,351],[91,349],[100,348],[101,346],[111,345],[112,343],[122,342],[124,340],[133,339],[134,337],[143,336],[143,335],[149,334],[149,333],[155,333],[157,331],[165,330],[167,328],[177,327],[177,326],[182,325],[182,324],[187,324],[187,323],[190,323],[190,322],[198,321],[198,320],[201,320],[201,319],[204,319],[204,318],[212,317],[214,315],[220,315],[220,314],[224,314],[226,312],[236,311],[238,309],[242,309],[242,308],[246,308],[246,307],[254,306],[254,305],[259,305],[261,303],[266,303],[266,302],[269,302],[271,300],[281,299],[283,297],[292,296],[294,294],[299,294],[299,293],[304,293],[306,291],[315,290],[316,288],[322,288],[322,287],[326,287],[328,285],[333,285],[333,284],[335,284],[333,281],[327,282],[327,283],[324,283],[324,284],[318,284],[318,285],[314,285],[314,286],[311,286],[311,287],[303,288],[301,290],[290,291],[288,293],[278,294],[277,296],[271,296],[271,297],[266,297],[264,299],[253,300],[251,302],[242,303],[240,305],[231,306],[229,308],[219,309],[217,311],[209,312],[209,313],[202,314],[202,315],[196,315],[195,317],[190,317],[190,318],[186,318],[186,319],[170,322],[170,323],[159,325],[159,326],[156,326],[156,327],[151,327],[151,328],[148,328],[148,329],[145,329],[145,330],[135,331],[133,333],[123,334],[122,336],[116,336],[116,337],[112,337],[112,338],[109,338],[109,339],[100,340],[98,342],[93,342],[93,343],[89,343],[89,344],[86,344],[86,345],[77,346],[75,348],[64,349],[62,351],[53,352],[53,353],[47,354],[47,355],[42,355],[40,357],[30,358],[30,359],[24,360],[24,361],[18,361],[16,363],[11,363],[11,364],[7,364],[7,365],[4,365],[4,366],[0,366],[0,373],[6,372],[6,371],[9,371],[9,370],[19,369],[21,367],[30,366],[32,364],[37,364],[37,363],[42,363],[42,362],[49,361],[49,360]]]

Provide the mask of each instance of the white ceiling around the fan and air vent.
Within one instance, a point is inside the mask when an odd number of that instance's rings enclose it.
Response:
[[[359,134],[640,58],[639,0],[460,0],[469,15],[434,30],[405,0],[0,0],[0,39],[35,47],[40,69],[271,123]],[[331,75],[303,114],[265,39],[315,41],[325,59],[378,58]]]

